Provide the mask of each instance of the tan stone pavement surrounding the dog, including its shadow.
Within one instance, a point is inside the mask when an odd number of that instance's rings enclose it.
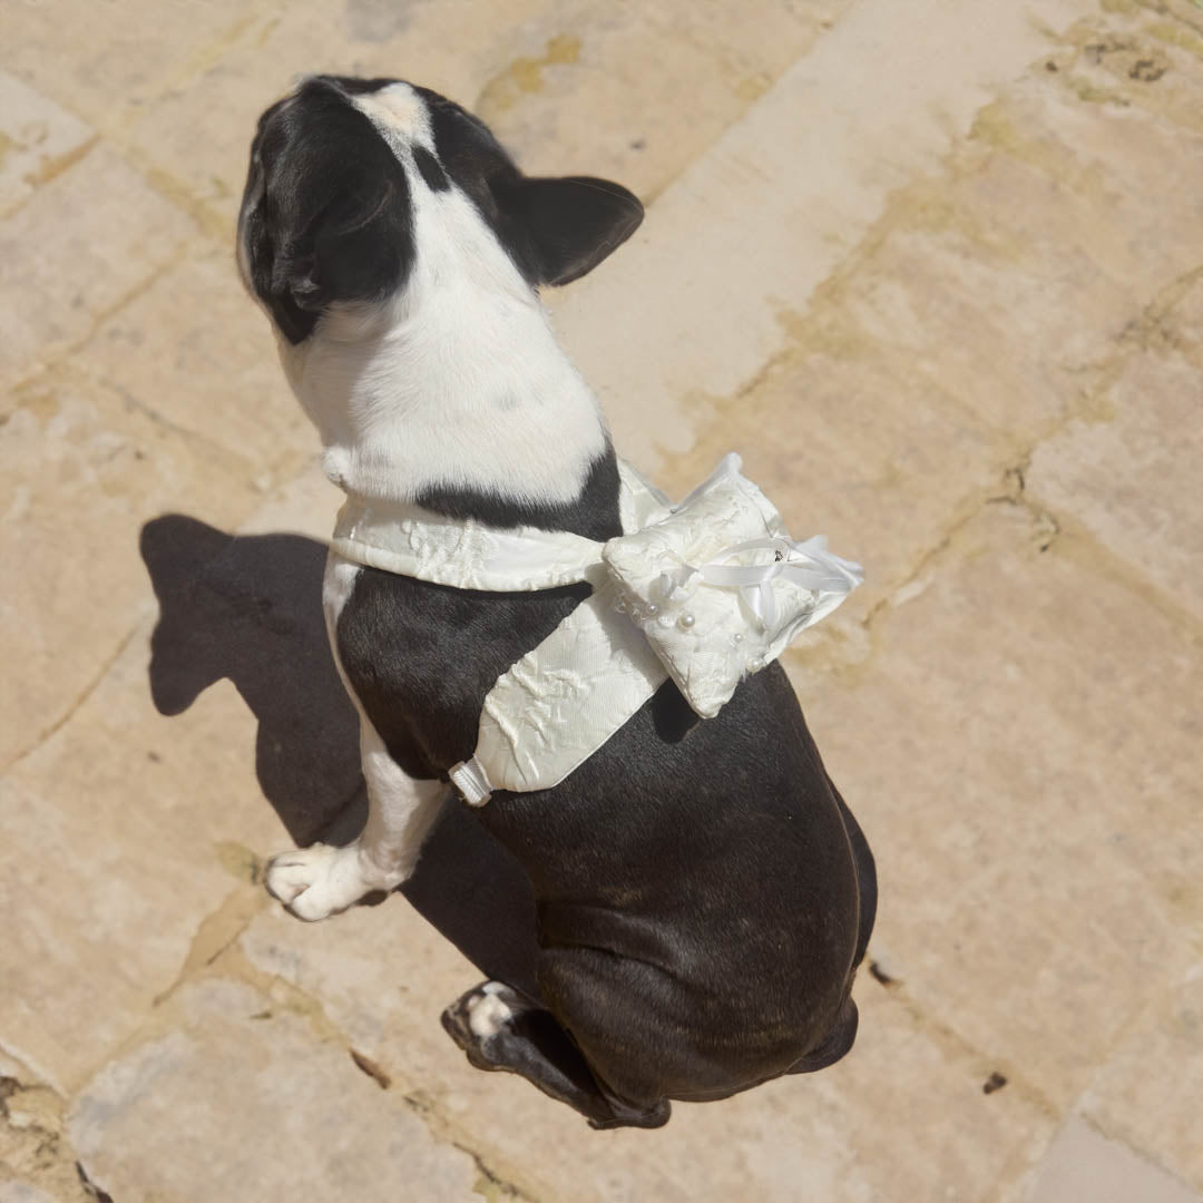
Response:
[[[1199,1198],[1203,5],[7,0],[0,45],[2,1203]],[[336,496],[231,255],[319,69],[640,192],[549,298],[621,448],[677,493],[739,449],[865,562],[788,659],[881,873],[836,1067],[593,1133],[439,1027],[529,973],[470,818],[325,924],[257,884],[362,813]]]

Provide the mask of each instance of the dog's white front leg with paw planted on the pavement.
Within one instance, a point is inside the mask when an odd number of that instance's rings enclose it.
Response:
[[[417,854],[446,794],[440,781],[410,777],[361,716],[360,753],[368,787],[368,820],[343,848],[315,843],[267,863],[265,883],[298,919],[325,919],[365,894],[391,890],[417,864]]]

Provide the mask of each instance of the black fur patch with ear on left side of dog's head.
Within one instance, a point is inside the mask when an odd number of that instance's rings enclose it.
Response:
[[[331,303],[380,300],[409,273],[409,180],[346,96],[390,82],[309,79],[260,119],[241,237],[251,288],[291,343]]]

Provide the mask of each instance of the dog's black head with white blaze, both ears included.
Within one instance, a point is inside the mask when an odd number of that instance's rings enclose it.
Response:
[[[451,192],[532,289],[583,275],[644,214],[609,180],[523,176],[482,122],[426,88],[314,76],[259,122],[238,220],[247,286],[298,344],[332,306],[404,292],[425,253],[419,211]]]

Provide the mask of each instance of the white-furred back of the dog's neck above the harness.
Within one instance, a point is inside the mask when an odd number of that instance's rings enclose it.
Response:
[[[280,339],[327,475],[366,499],[571,506],[614,458],[592,391],[482,223],[422,218],[396,298],[336,308],[298,346]]]

